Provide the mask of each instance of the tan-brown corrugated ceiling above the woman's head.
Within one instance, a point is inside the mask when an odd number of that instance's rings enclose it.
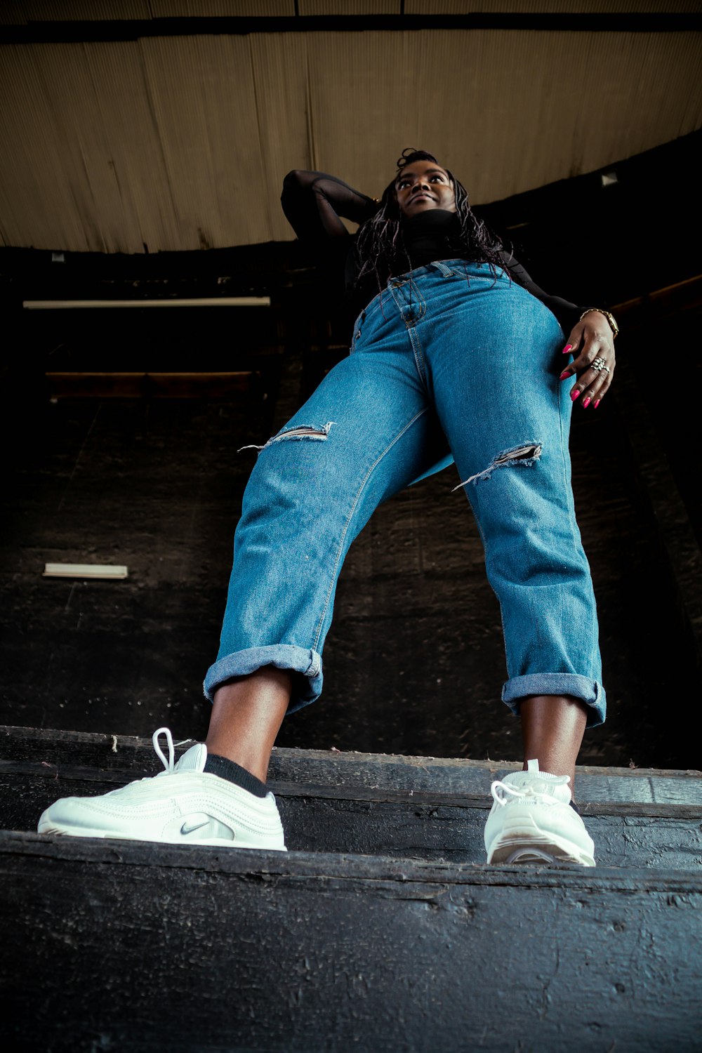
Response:
[[[599,0],[406,0],[407,14],[656,12]],[[300,14],[396,12],[299,0]],[[293,14],[293,0],[15,3],[3,21]],[[89,12],[89,15],[88,15]],[[379,196],[404,146],[475,203],[594,171],[702,124],[693,32],[423,29],[0,46],[0,238],[149,252],[287,240],[290,168]],[[347,224],[355,230],[353,224]]]

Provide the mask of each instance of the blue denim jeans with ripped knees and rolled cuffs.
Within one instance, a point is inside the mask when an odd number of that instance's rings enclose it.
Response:
[[[322,691],[339,572],[375,509],[455,460],[502,611],[502,699],[571,695],[602,723],[598,625],[576,522],[550,311],[487,264],[441,260],[392,277],[350,354],[258,454],[234,542],[219,654],[204,691],[294,670],[288,712]],[[398,616],[400,612],[398,612]]]

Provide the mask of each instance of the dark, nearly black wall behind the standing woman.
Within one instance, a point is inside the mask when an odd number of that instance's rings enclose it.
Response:
[[[545,289],[617,315],[617,382],[576,408],[579,521],[609,717],[581,762],[694,768],[699,694],[699,134],[496,202]],[[343,174],[339,174],[343,175]],[[459,175],[460,178],[460,174]],[[339,276],[298,242],[142,257],[0,250],[3,722],[201,737],[255,452],[347,353]],[[35,299],[269,295],[270,307],[35,311]],[[187,374],[187,376],[182,376]],[[278,743],[519,755],[497,601],[455,469],[383,505],[344,567],[325,693]],[[44,563],[124,563],[123,581]]]

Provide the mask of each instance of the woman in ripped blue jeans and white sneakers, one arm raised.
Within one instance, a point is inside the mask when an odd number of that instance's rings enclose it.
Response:
[[[174,766],[160,729],[164,772],[58,801],[39,830],[284,849],[270,749],[283,716],[321,693],[346,552],[378,504],[455,460],[502,610],[502,698],[524,741],[524,770],[493,783],[487,861],[594,866],[569,787],[605,695],[567,436],[575,400],[597,408],[609,388],[616,322],[540,290],[426,152],[403,152],[380,201],[292,172],[282,203],[300,238],[346,258],[359,313],[350,355],[257,448],[205,677],[206,742]],[[355,244],[340,215],[361,224]]]

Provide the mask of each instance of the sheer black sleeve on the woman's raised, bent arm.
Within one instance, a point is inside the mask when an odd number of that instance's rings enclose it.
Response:
[[[364,223],[378,210],[378,202],[324,172],[288,172],[280,203],[300,241],[317,245],[330,238],[348,238],[340,216]]]

